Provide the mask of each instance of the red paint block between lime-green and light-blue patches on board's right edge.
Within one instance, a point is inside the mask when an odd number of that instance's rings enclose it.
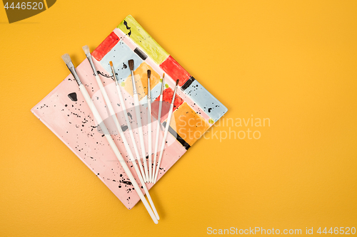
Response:
[[[190,78],[190,74],[181,67],[180,64],[176,62],[171,56],[167,57],[163,63],[161,63],[160,68],[162,68],[165,73],[169,74],[170,77],[176,82],[178,79],[178,85],[182,86]]]

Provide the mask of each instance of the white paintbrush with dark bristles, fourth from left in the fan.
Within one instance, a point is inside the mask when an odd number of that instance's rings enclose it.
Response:
[[[135,106],[136,122],[138,124],[139,139],[141,144],[141,154],[143,156],[144,172],[145,172],[146,180],[149,180],[149,169],[148,169],[148,165],[146,164],[147,162],[146,162],[146,152],[145,152],[145,143],[144,143],[144,132],[143,132],[143,126],[141,125],[139,95],[136,90],[135,78],[134,78],[134,60],[133,59],[129,60],[128,64],[131,71],[131,82],[133,83],[134,106]]]

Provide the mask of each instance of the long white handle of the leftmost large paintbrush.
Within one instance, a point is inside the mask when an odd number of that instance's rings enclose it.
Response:
[[[98,110],[96,110],[96,106],[94,105],[94,102],[91,100],[91,97],[89,96],[89,94],[83,84],[79,85],[79,90],[81,90],[84,100],[86,100],[87,104],[89,105],[89,108],[91,109],[91,112],[93,113],[94,118],[96,119],[96,122],[99,123],[99,126],[101,127],[101,130],[104,132],[104,135],[105,135],[106,139],[108,140],[108,142],[111,146],[111,149],[113,150],[114,154],[116,155],[116,158],[119,160],[121,167],[123,167],[124,172],[129,177],[131,184],[133,184],[136,193],[139,195],[146,210],[149,212],[149,215],[151,216],[152,220],[154,221],[154,223],[159,223],[153,210],[151,210],[151,207],[150,207],[148,201],[146,201],[144,194],[141,192],[139,185],[136,183],[136,181],[133,177],[133,174],[131,174],[129,167],[126,165],[126,162],[124,161],[123,157],[121,157],[118,147],[116,147],[116,144],[115,144],[113,138],[109,134],[109,131],[107,130],[106,125],[104,125],[104,122],[101,119],[101,115],[99,115]]]

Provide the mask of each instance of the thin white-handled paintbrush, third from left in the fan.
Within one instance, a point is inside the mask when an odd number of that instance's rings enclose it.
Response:
[[[126,120],[126,125],[128,126],[131,142],[133,143],[133,146],[134,146],[134,151],[135,151],[135,154],[136,154],[136,159],[138,160],[141,176],[143,177],[144,181],[146,182],[144,169],[143,169],[143,166],[141,165],[141,158],[140,158],[139,150],[138,150],[138,147],[136,146],[136,141],[135,141],[135,138],[134,138],[134,132],[133,132],[133,130],[131,130],[131,123],[129,121],[128,112],[126,112],[126,105],[125,105],[125,102],[124,102],[123,95],[121,94],[121,89],[120,89],[120,86],[119,86],[119,80],[116,78],[115,70],[114,70],[114,67],[113,67],[113,62],[110,61],[109,64],[111,65],[111,72],[113,73],[114,81],[116,83],[116,91],[117,91],[118,96],[119,96],[120,104],[121,104],[121,107],[122,107],[122,110],[123,110],[123,113],[124,113],[124,117],[125,117],[125,120]]]

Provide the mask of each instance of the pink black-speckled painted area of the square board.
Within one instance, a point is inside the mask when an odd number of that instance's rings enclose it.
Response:
[[[100,70],[101,72],[104,71],[99,63],[95,61],[95,64],[97,70]],[[81,77],[81,81],[86,85],[86,89],[96,104],[101,116],[108,118],[106,108],[104,107],[104,99],[101,97],[99,87],[96,85],[93,73],[91,73],[88,60],[84,60],[76,70]],[[111,78],[106,78],[104,76],[100,77],[104,82],[104,86],[109,94],[112,105],[117,112],[119,122],[125,124],[121,107],[117,105],[119,104],[119,98],[116,94],[114,81]],[[125,90],[121,90],[121,92],[123,93],[124,98],[127,98],[126,106],[133,110],[134,108],[131,107],[132,98],[126,94]],[[69,98],[68,95],[70,93],[76,93],[77,101],[72,101]],[[146,108],[141,107],[141,111],[146,114],[147,110]],[[64,142],[64,144],[66,144],[69,149],[71,149],[72,152],[74,152],[74,154],[76,154],[76,156],[79,157],[79,159],[81,159],[81,161],[84,162],[84,164],[86,164],[86,166],[89,167],[89,169],[91,169],[91,171],[94,172],[104,184],[106,184],[106,186],[109,187],[109,189],[111,189],[128,209],[133,208],[139,201],[139,196],[136,194],[136,191],[132,189],[128,177],[121,168],[121,165],[117,161],[116,156],[114,155],[114,152],[112,152],[105,137],[102,137],[101,132],[97,130],[97,124],[79,91],[76,81],[73,80],[72,75],[69,75],[64,79],[49,95],[46,96],[46,98],[44,98],[44,100],[41,100],[39,104],[35,105],[31,109],[31,112],[33,112],[41,122],[44,122],[44,124],[49,127],[49,129],[54,132],[54,134],[56,134],[57,137],[59,137],[59,139],[61,139],[62,142]],[[134,115],[134,111],[131,111],[131,114]],[[143,117],[146,116],[143,115]],[[104,121],[109,129],[114,128],[111,119],[104,119]],[[134,130],[134,135],[136,135],[136,141],[139,142],[136,130],[137,128]],[[156,123],[153,124],[153,131],[156,131]],[[129,132],[126,131],[124,133],[126,134],[126,139],[130,141]],[[147,126],[144,127],[144,133],[147,135]],[[119,146],[119,150],[124,159],[128,160],[124,144],[121,142],[120,137],[115,134],[112,135],[112,137]],[[147,142],[147,139],[145,139],[145,141]],[[140,146],[138,146],[138,148],[140,149]],[[132,149],[132,152],[134,152],[134,149]],[[164,152],[159,179],[184,152],[186,152],[186,149],[184,149],[181,144],[171,136],[168,139],[168,148]],[[129,165],[129,169],[131,169],[136,180],[139,181],[134,168]],[[141,185],[142,184],[139,183],[139,186]],[[146,185],[149,189],[152,186],[152,184]]]

